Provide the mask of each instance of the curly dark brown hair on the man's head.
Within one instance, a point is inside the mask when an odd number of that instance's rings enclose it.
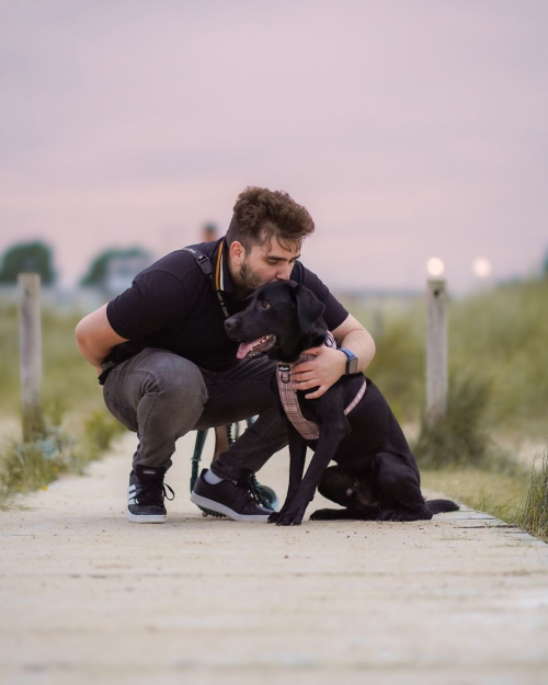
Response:
[[[230,246],[238,240],[249,250],[275,237],[282,248],[289,249],[300,247],[313,229],[308,210],[288,193],[252,185],[238,195],[227,242]]]

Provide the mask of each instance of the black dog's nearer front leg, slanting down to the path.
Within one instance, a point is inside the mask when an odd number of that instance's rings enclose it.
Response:
[[[328,468],[340,442],[346,433],[347,431],[344,426],[336,427],[328,425],[320,431],[315,455],[305,478],[300,482],[297,494],[292,499],[287,507],[287,502],[284,504],[279,515],[276,517],[276,524],[278,526],[298,526],[301,524],[307,506],[313,500],[320,478]]]

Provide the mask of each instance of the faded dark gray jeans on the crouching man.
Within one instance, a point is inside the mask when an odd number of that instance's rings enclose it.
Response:
[[[111,370],[103,396],[111,413],[137,433],[134,466],[169,468],[176,439],[189,431],[259,414],[213,466],[217,476],[237,479],[242,469],[258,471],[287,444],[285,421],[270,387],[273,373],[274,362],[266,357],[215,373],[172,352],[147,347]]]

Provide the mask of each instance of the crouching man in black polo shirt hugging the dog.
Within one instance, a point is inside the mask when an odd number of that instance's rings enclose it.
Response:
[[[287,443],[270,389],[274,363],[237,359],[238,343],[224,328],[226,317],[242,311],[244,298],[260,286],[292,278],[310,288],[346,349],[315,349],[309,351],[315,361],[295,368],[299,387],[313,389],[308,399],[323,395],[351,362],[354,370],[354,355],[358,372],[373,359],[369,333],[297,261],[313,229],[307,209],[287,193],[248,187],[238,196],[226,237],[194,246],[209,258],[213,279],[192,252],[178,250],[78,324],[78,349],[100,374],[106,407],[139,437],[129,476],[129,521],[165,521],[163,477],[179,437],[255,414],[256,422],[202,473],[194,494],[236,521],[265,521],[271,513],[251,496],[250,475]]]

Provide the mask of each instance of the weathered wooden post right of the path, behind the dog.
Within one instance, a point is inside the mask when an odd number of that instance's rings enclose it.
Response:
[[[426,286],[426,424],[433,426],[447,413],[447,315],[446,282]]]

